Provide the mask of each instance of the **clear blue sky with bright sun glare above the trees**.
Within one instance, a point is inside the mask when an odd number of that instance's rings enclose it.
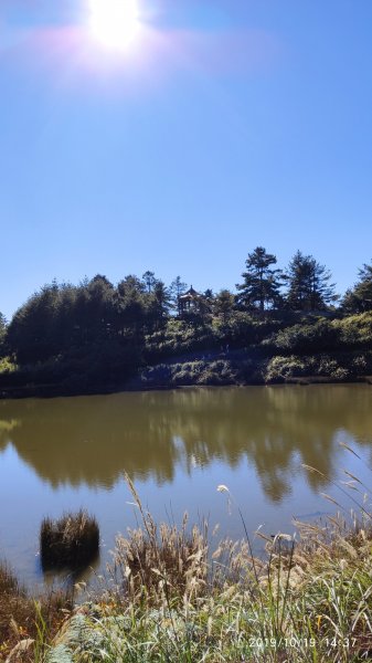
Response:
[[[371,0],[138,0],[125,43],[120,1],[1,0],[0,311],[97,273],[234,288],[257,245],[352,286]]]

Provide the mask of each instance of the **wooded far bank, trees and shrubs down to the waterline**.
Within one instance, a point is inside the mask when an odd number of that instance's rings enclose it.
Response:
[[[44,285],[0,314],[2,396],[246,385],[372,373],[372,264],[342,296],[300,251],[286,270],[263,246],[236,291],[198,293],[151,271]]]

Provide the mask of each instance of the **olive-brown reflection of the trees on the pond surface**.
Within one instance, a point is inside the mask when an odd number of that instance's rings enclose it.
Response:
[[[188,389],[0,402],[0,452],[9,443],[53,487],[111,488],[134,480],[172,482],[178,466],[253,465],[279,502],[300,463],[331,478],[338,440],[372,438],[369,386]],[[308,472],[308,484],[327,483]]]

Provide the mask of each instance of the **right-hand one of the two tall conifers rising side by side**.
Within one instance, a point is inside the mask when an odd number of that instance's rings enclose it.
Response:
[[[338,299],[331,273],[312,255],[297,251],[285,274],[286,303],[294,311],[321,311]]]

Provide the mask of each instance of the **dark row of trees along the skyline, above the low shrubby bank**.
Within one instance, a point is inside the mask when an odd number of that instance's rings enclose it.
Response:
[[[188,284],[178,276],[170,286],[147,271],[128,275],[117,285],[100,274],[78,285],[44,285],[14,314],[9,324],[0,314],[2,355],[20,364],[44,361],[74,348],[93,348],[104,341],[130,366],[146,337],[156,335],[173,318],[203,325],[211,317],[227,322],[237,312],[263,315],[277,311],[325,312],[336,305],[346,313],[372,309],[372,265],[363,265],[357,284],[342,299],[331,274],[313,256],[297,251],[286,270],[263,246],[248,253],[236,292],[206,290],[182,309]]]

